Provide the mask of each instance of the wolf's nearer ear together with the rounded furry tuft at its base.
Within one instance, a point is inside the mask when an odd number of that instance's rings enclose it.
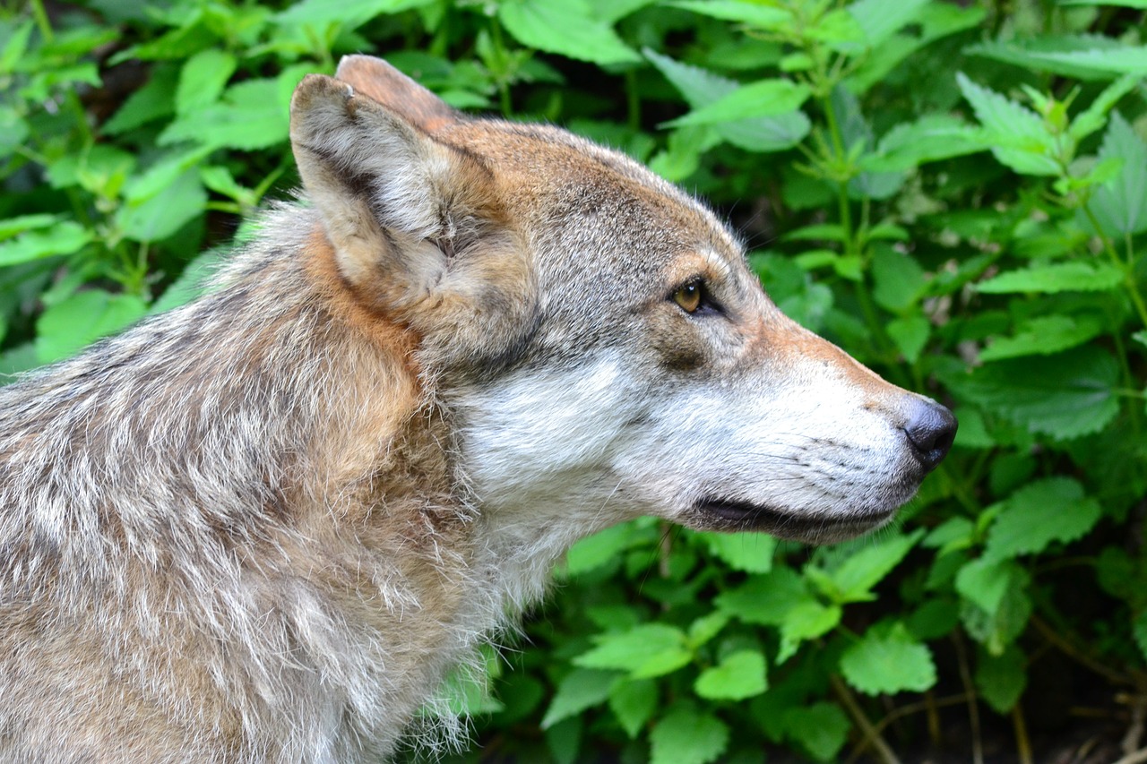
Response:
[[[299,83],[290,123],[303,186],[356,298],[411,325],[439,367],[521,344],[537,302],[526,247],[475,155],[321,75]]]

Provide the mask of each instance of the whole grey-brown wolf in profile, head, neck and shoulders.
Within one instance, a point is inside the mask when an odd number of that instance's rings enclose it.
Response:
[[[2,761],[373,761],[577,538],[844,538],[951,444],[630,159],[336,77],[292,104],[310,206],[0,391]]]

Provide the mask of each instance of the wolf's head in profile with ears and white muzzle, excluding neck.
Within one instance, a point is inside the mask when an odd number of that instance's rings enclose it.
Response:
[[[654,514],[832,541],[887,522],[955,420],[786,318],[703,205],[551,126],[343,60],[291,142],[344,286],[418,337],[481,510],[568,544]]]

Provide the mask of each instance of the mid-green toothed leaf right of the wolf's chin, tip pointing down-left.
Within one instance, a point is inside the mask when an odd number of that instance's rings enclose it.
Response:
[[[985,561],[1043,552],[1090,531],[1102,514],[1095,499],[1070,477],[1048,477],[1024,485],[1004,501],[989,529]]]

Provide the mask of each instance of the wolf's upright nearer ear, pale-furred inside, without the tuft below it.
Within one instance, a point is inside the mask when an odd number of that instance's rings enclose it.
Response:
[[[404,115],[321,75],[309,75],[295,89],[290,123],[303,186],[343,275],[362,294],[385,286],[389,294],[376,296],[391,309],[424,295],[487,205],[489,171]]]

